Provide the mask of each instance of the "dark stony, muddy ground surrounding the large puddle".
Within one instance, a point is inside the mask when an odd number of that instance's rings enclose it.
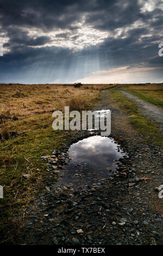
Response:
[[[128,158],[109,178],[78,189],[57,187],[47,175],[45,189],[23,215],[24,245],[162,245],[162,148],[145,141],[104,91],[96,109],[111,110],[111,138]],[[85,138],[78,132],[71,143]],[[66,152],[69,145],[62,148]],[[55,148],[53,149],[55,150]]]

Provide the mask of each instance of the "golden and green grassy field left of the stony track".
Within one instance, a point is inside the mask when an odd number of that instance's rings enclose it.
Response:
[[[0,85],[0,184],[5,194],[0,202],[1,230],[10,225],[16,209],[25,209],[34,199],[36,188],[42,186],[40,175],[46,174],[47,166],[41,156],[52,154],[71,137],[71,132],[52,129],[52,112],[65,105],[76,109],[75,103],[78,110],[90,109],[106,87]],[[24,174],[30,179],[25,180]]]

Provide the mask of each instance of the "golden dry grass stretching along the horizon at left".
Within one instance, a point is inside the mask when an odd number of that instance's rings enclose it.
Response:
[[[35,116],[42,112],[52,112],[61,109],[63,100],[72,97],[86,98],[95,97],[96,91],[104,86],[91,85],[74,88],[71,85],[0,85],[0,119],[1,115],[9,114],[19,119],[27,116]],[[4,117],[3,119],[12,119]]]

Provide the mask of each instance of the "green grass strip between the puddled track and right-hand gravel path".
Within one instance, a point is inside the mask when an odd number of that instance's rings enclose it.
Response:
[[[143,117],[136,103],[122,95],[118,90],[110,90],[108,93],[111,93],[117,105],[126,112],[131,125],[140,135],[145,135],[146,140],[151,143],[163,146],[163,135],[158,129],[158,125]]]

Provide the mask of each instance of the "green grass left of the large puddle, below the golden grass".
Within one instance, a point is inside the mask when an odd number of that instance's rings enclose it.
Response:
[[[32,126],[32,120],[20,121],[20,126],[28,127],[29,123]],[[0,184],[4,186],[4,198],[0,199],[0,241],[5,240],[6,229],[10,225],[12,227],[12,217],[15,213],[21,207],[27,207],[34,199],[36,190],[43,187],[43,177],[48,171],[41,156],[51,155],[53,150],[59,149],[60,144],[68,138],[70,134],[54,131],[51,118],[42,115],[39,120],[33,120],[33,126],[28,127],[27,132],[1,143]],[[22,178],[23,174],[30,174],[30,178],[25,180]]]

